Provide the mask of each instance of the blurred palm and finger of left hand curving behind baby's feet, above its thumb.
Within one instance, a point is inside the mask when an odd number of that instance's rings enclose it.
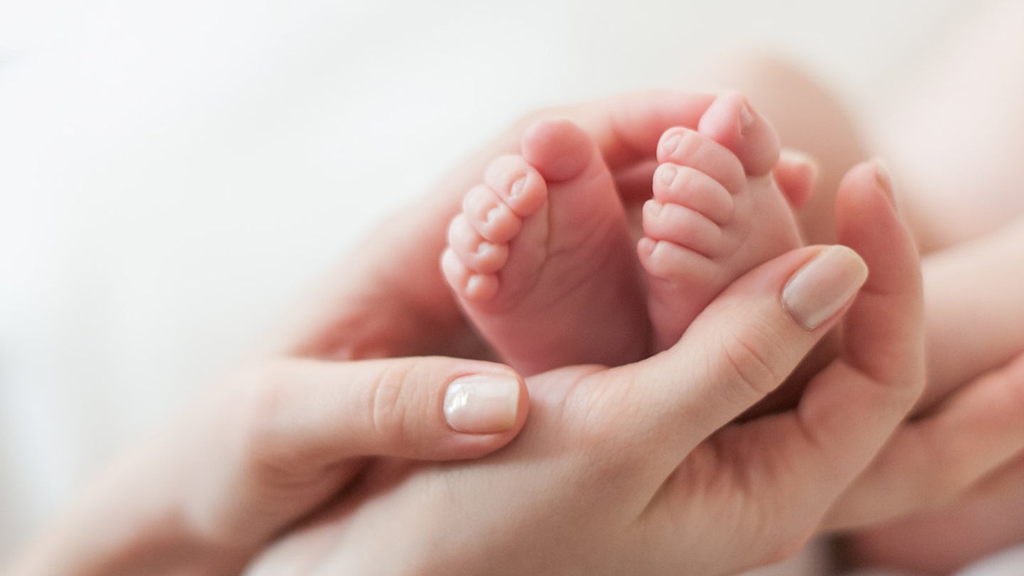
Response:
[[[269,351],[315,358],[358,359],[440,354],[490,358],[466,323],[441,277],[438,259],[447,223],[466,191],[477,183],[487,162],[518,151],[525,129],[544,118],[565,118],[591,133],[628,204],[650,198],[662,133],[673,126],[697,129],[715,96],[677,91],[639,92],[595,102],[529,114],[504,135],[480,147],[443,178],[423,202],[368,235],[337,274],[292,316]],[[757,138],[774,132],[760,126],[729,148],[743,154]],[[768,167],[759,166],[767,171]]]

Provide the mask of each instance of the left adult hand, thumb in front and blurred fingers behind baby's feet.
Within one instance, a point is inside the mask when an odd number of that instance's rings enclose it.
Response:
[[[590,127],[624,182],[668,127],[696,127],[712,96],[635,94],[535,115]],[[126,455],[23,558],[26,573],[230,571],[267,538],[382,459],[477,457],[522,425],[527,397],[486,354],[441,280],[444,224],[522,125],[465,163],[431,200],[356,250],[304,317],[199,409]],[[738,142],[737,146],[742,146]],[[648,174],[649,176],[649,174]],[[649,181],[649,177],[647,178]],[[648,184],[649,186],[649,184]],[[624,190],[628,186],[624,184]],[[469,380],[464,377],[470,376]]]

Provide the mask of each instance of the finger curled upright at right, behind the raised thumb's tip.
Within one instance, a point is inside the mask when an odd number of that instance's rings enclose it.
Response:
[[[816,523],[924,386],[921,271],[888,186],[877,164],[864,163],[839,190],[840,238],[870,270],[844,318],[840,358],[811,380],[796,411],[752,421],[736,443],[746,451],[733,461],[759,470],[752,498],[772,503],[769,515],[800,509]]]

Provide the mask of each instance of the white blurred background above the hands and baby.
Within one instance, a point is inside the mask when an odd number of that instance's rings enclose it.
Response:
[[[870,114],[983,4],[0,0],[0,561],[523,112],[767,48]]]

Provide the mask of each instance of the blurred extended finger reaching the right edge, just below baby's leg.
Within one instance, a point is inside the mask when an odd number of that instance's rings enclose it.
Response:
[[[967,491],[1024,451],[1024,355],[901,426],[829,510],[829,529],[885,522]]]

